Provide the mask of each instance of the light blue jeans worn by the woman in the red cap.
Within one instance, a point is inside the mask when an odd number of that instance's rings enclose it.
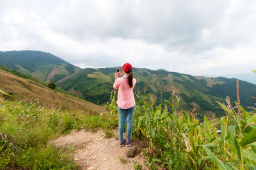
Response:
[[[120,143],[124,141],[125,118],[126,118],[126,142],[129,143],[131,141],[132,118],[133,118],[134,110],[135,110],[135,105],[133,107],[130,107],[129,109],[122,109],[118,106],[118,114],[119,114],[118,134],[119,134]]]

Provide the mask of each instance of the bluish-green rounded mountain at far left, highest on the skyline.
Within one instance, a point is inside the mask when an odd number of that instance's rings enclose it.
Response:
[[[50,53],[33,50],[0,52],[0,65],[46,82],[56,82],[81,69]]]

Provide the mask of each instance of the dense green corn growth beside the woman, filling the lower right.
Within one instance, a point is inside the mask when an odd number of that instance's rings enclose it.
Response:
[[[149,169],[256,168],[256,111],[247,112],[238,104],[235,111],[230,100],[227,106],[219,102],[227,115],[220,119],[219,135],[214,127],[218,122],[206,116],[200,122],[195,109],[189,112],[179,108],[177,95],[159,105],[150,95],[136,96],[132,135],[147,141],[144,153]],[[110,101],[108,108],[115,113],[115,95]]]

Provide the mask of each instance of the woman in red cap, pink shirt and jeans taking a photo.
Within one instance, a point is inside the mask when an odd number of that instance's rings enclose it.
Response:
[[[136,79],[133,79],[132,65],[125,63],[121,68],[123,72],[115,73],[114,89],[118,89],[118,98],[116,104],[118,105],[119,123],[118,134],[120,147],[131,146],[134,140],[131,139],[132,134],[132,117],[135,110],[135,100],[133,95],[133,88],[136,84]],[[118,78],[118,75],[120,78]],[[126,119],[126,139],[124,139],[124,123]]]

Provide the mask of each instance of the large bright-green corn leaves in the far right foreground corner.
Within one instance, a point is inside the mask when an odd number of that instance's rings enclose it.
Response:
[[[202,145],[202,148],[218,169],[236,169],[237,167],[239,167],[239,169],[255,169],[255,114],[250,116],[250,114],[239,105],[242,111],[241,118],[239,118],[238,113],[235,111],[238,106],[234,109],[229,100],[227,100],[227,102],[228,106],[219,103],[227,113],[226,119],[221,118],[221,135],[219,137],[221,143],[219,143],[219,146],[225,157],[224,160],[228,161],[221,161],[206,145]],[[229,116],[232,118],[234,125],[228,126]]]

